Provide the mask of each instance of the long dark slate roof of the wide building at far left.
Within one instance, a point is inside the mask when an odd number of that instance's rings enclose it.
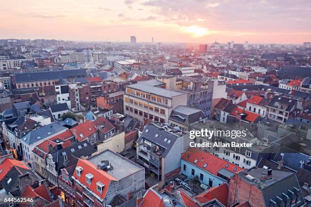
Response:
[[[45,71],[35,73],[15,73],[16,83],[44,81],[44,80],[59,80],[60,78],[86,77],[85,69],[75,70],[59,70],[59,71]]]

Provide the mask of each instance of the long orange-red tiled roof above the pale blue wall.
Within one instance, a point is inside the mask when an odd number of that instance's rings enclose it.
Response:
[[[189,147],[189,149],[182,154],[181,159],[203,169],[204,171],[210,172],[213,175],[217,175],[218,171],[220,171],[222,168],[232,173],[243,170],[243,168],[240,168],[230,162],[227,162],[219,157],[203,152],[194,147]],[[197,163],[194,163],[196,159],[198,161]],[[203,166],[205,163],[207,163],[207,166],[204,168]],[[226,165],[228,165],[228,167],[226,167]],[[236,170],[234,170],[235,168]]]

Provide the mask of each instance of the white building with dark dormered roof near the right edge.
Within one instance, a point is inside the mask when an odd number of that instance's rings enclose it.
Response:
[[[297,100],[282,96],[274,96],[267,104],[267,117],[270,120],[285,123],[289,114],[297,107]]]

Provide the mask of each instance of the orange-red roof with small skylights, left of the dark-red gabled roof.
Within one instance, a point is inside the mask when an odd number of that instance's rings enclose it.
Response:
[[[90,135],[97,132],[96,127],[92,124],[91,121],[87,120],[86,122],[79,124],[70,129],[70,131],[76,135],[78,141],[82,141],[83,139],[89,137]]]

